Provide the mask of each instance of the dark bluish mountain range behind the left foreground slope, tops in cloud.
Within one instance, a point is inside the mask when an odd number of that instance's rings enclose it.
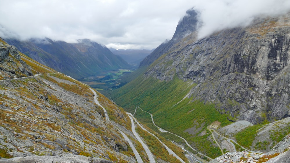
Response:
[[[78,40],[78,43],[52,41],[48,38],[28,41],[6,39],[6,41],[39,63],[76,79],[116,69],[132,68],[104,45],[88,39]]]

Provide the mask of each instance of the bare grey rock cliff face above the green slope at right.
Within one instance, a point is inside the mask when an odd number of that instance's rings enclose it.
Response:
[[[254,124],[290,116],[289,14],[256,20],[247,28],[182,39],[151,65],[146,76],[171,80],[174,75],[197,86],[193,100],[213,102]]]

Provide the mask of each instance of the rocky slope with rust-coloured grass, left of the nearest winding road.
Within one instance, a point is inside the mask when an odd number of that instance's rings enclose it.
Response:
[[[15,47],[0,44],[1,54],[6,53],[1,59],[5,69],[1,78],[12,78],[0,81],[1,154],[6,157],[74,154],[101,157],[99,161],[134,160],[120,133],[102,120],[102,111],[95,105],[88,86],[19,55]],[[22,75],[16,71],[14,76],[10,76],[11,70],[2,73],[11,65],[25,65],[29,73],[24,71]],[[13,68],[17,67],[10,67]],[[13,80],[23,76],[28,78]],[[107,106],[112,115],[122,116],[119,122],[126,123],[124,112],[111,103]]]

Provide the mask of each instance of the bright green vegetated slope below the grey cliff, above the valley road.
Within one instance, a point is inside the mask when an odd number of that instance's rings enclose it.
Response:
[[[209,157],[215,157],[221,153],[207,140],[209,133],[204,136],[198,136],[198,134],[206,131],[206,127],[216,120],[222,122],[222,126],[231,122],[226,119],[227,115],[221,115],[212,104],[191,101],[191,98],[182,100],[195,85],[177,77],[166,82],[154,78],[144,79],[139,76],[128,85],[113,91],[112,98],[131,113],[134,113],[136,106],[152,113],[157,126],[186,138],[201,152],[206,153]],[[148,113],[137,110],[135,117],[157,131],[156,127],[153,127]],[[195,135],[184,132],[191,127],[201,130],[196,130]],[[180,142],[169,134],[161,133],[161,135]]]

